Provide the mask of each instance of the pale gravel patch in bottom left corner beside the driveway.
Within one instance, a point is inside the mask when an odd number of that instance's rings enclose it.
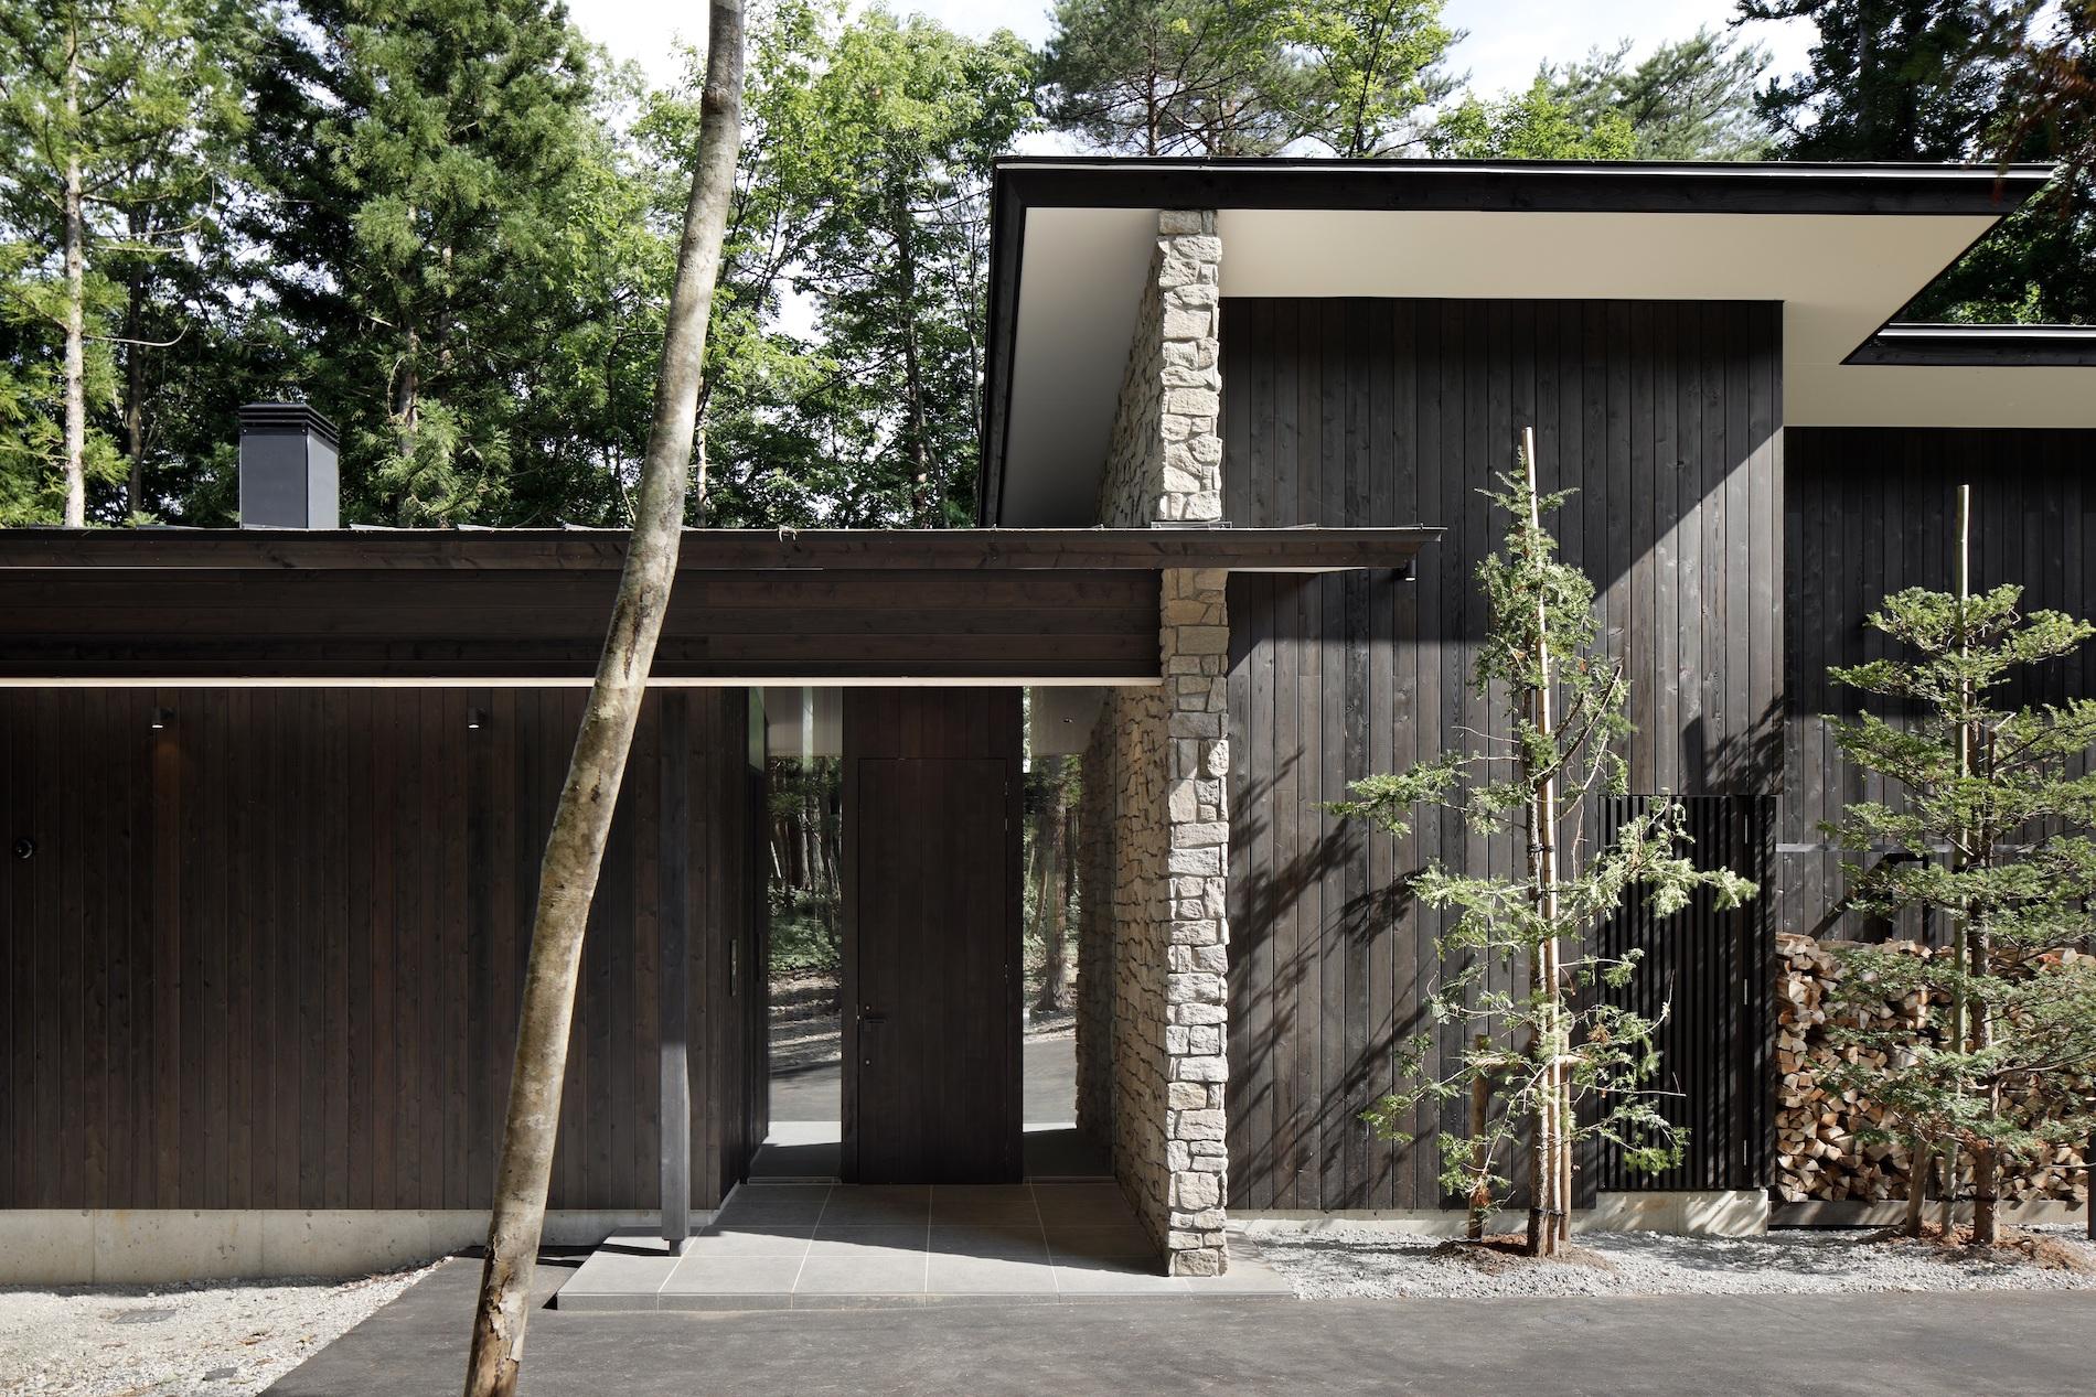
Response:
[[[0,1393],[260,1393],[432,1267],[361,1280],[0,1288]]]

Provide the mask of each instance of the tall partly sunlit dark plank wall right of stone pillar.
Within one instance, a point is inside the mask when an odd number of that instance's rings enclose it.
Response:
[[[1432,1137],[1373,1139],[1425,1026],[1434,924],[1402,844],[1323,802],[1465,744],[1501,522],[1478,496],[1536,427],[1551,522],[1629,662],[1633,792],[1773,788],[1782,681],[1780,308],[1727,302],[1224,300],[1224,517],[1440,524],[1419,580],[1230,580],[1230,1204],[1440,1206]],[[1492,859],[1511,869],[1513,848]],[[1450,1049],[1455,1043],[1442,1043]],[[1432,1125],[1432,1123],[1419,1123]]]

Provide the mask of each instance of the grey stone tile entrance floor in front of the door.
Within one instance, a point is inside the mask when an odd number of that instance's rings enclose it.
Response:
[[[744,1183],[681,1257],[618,1232],[558,1309],[857,1309],[987,1299],[1289,1296],[1249,1248],[1216,1278],[1163,1273],[1115,1183]]]

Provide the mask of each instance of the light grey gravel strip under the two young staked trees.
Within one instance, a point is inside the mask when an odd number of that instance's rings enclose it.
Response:
[[[1232,1232],[1249,1240],[1302,1299],[2096,1288],[2096,1246],[2079,1227],[2029,1229],[2069,1265],[2037,1265],[2016,1252],[1983,1257],[1847,1227],[1763,1238],[1574,1234],[1570,1261],[1480,1255],[1480,1248],[1367,1221],[1247,1221],[1232,1223]]]

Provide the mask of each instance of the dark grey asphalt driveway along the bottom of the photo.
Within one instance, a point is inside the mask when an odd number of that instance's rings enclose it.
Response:
[[[549,1296],[568,1276],[541,1265]],[[478,1261],[451,1261],[279,1382],[453,1397]],[[658,1397],[1469,1393],[1974,1397],[2090,1384],[2090,1294],[1115,1301],[878,1311],[537,1309],[524,1391]]]

